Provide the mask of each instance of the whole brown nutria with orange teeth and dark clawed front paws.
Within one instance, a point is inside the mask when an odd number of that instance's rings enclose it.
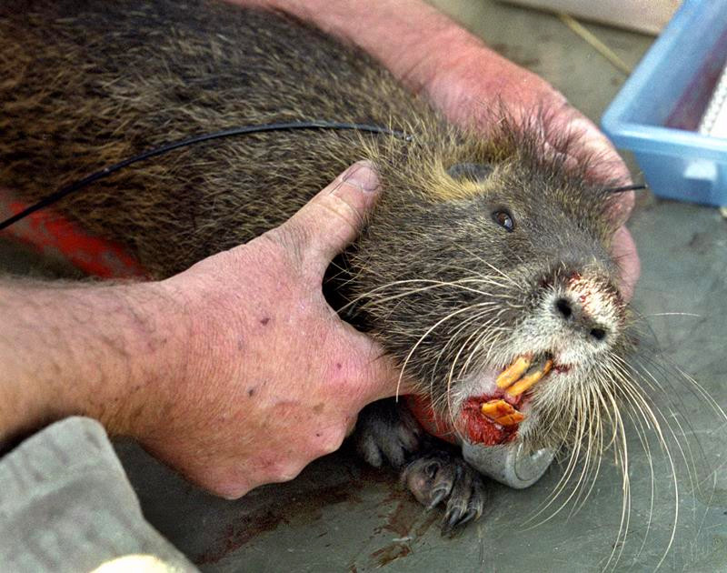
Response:
[[[354,47],[282,15],[212,1],[5,2],[0,42],[0,183],[28,200],[228,127],[318,119],[410,136],[218,140],[55,206],[127,246],[151,276],[283,223],[368,158],[385,192],[344,255],[345,279],[326,287],[441,417],[473,441],[572,444],[594,463],[611,432],[622,433],[619,404],[653,416],[626,362],[632,317],[609,256],[612,196],[587,179],[588,166],[544,153],[539,120],[504,118],[487,138],[450,126]],[[544,379],[523,387],[532,364]],[[482,513],[481,477],[421,437],[402,407],[368,407],[358,444],[373,464],[401,467],[425,505],[445,500],[445,529]]]

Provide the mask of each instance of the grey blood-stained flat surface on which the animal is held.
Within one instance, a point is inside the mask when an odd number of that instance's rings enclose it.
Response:
[[[434,4],[501,54],[543,75],[594,120],[624,81],[552,15],[489,0]],[[648,36],[588,28],[629,65],[652,43]],[[638,167],[630,165],[638,180]],[[643,266],[634,306],[648,325],[646,339],[656,339],[662,350],[651,368],[664,392],[654,401],[664,412],[662,425],[673,432],[665,430],[665,449],[651,438],[650,455],[631,433],[625,542],[619,535],[622,479],[611,458],[604,459],[580,508],[571,502],[553,515],[566,495],[543,509],[561,474],[552,467],[533,488],[493,487],[483,519],[458,538],[443,539],[438,514],[423,513],[392,474],[365,467],[345,447],[292,483],[228,502],[120,442],[144,514],[205,571],[643,571],[662,559],[664,571],[727,570],[725,427],[679,370],[727,407],[727,223],[716,210],[643,193],[630,228]],[[0,268],[26,272],[38,266],[28,253],[3,243]]]

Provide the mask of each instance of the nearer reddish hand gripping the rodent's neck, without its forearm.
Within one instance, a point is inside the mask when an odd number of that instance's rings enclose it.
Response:
[[[321,289],[378,192],[372,168],[355,164],[283,226],[161,284],[194,324],[184,375],[154,389],[163,415],[135,423],[144,447],[238,498],[333,452],[362,407],[393,394],[389,358]]]

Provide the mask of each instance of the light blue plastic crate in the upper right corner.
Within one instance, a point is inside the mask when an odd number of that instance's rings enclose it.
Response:
[[[727,139],[697,133],[727,61],[727,0],[684,0],[603,115],[655,194],[727,205]]]

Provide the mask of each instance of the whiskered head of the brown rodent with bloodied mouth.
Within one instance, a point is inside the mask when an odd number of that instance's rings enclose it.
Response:
[[[506,133],[410,152],[395,174],[384,166],[387,191],[354,254],[355,294],[450,427],[488,445],[557,447],[603,433],[631,344],[609,255],[612,196],[549,156],[541,135]],[[547,362],[543,379],[498,386],[518,360]],[[523,419],[498,423],[488,402]]]

